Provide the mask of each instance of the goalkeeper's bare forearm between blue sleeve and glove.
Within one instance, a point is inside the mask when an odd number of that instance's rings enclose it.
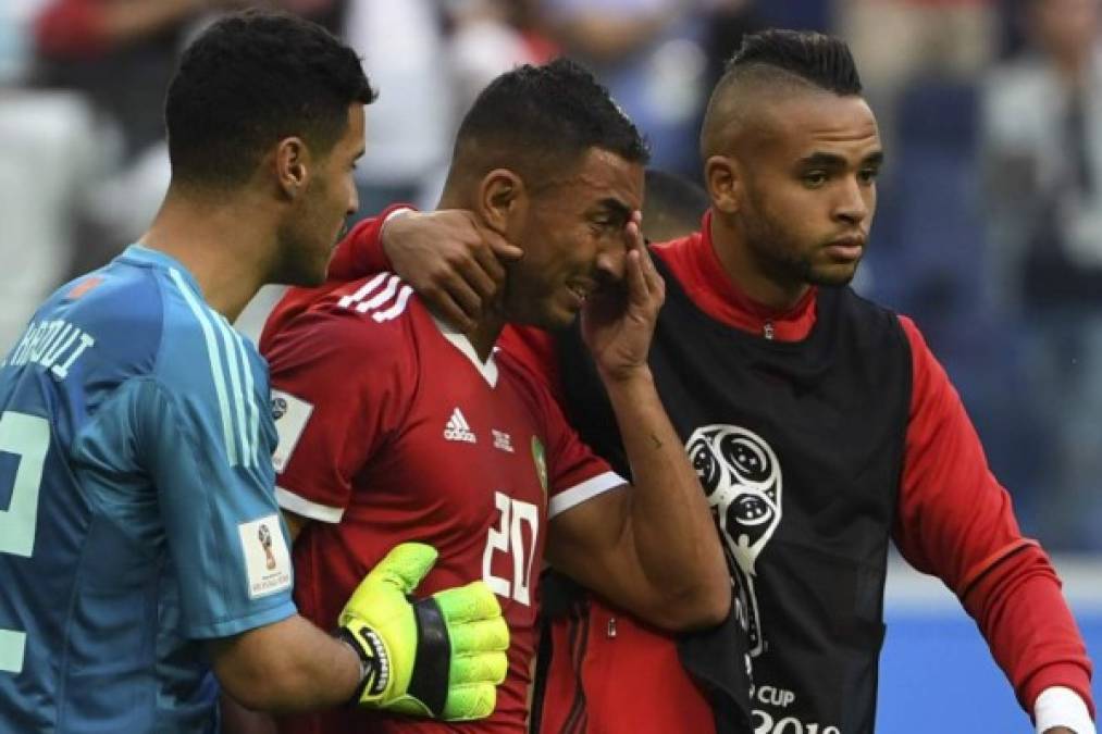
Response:
[[[214,671],[245,706],[292,712],[352,700],[359,687],[359,657],[346,644],[300,616],[214,644]]]

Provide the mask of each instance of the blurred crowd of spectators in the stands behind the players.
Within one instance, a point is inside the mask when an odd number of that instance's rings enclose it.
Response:
[[[1102,0],[268,0],[364,56],[361,212],[432,206],[498,73],[570,55],[699,180],[703,105],[746,31],[846,39],[886,147],[856,287],[916,319],[1024,529],[1102,551]],[[0,3],[0,343],[134,240],[168,186],[182,46],[245,0]],[[262,316],[263,307],[252,311]],[[255,328],[255,324],[250,326]],[[248,330],[247,330],[248,331]]]

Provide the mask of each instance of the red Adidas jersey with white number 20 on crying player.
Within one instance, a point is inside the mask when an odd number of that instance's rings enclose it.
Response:
[[[548,520],[624,479],[581,443],[542,384],[496,352],[482,363],[397,276],[322,295],[266,341],[284,509],[317,520],[294,544],[295,602],[335,627],[364,575],[402,541],[440,559],[417,594],[482,579],[509,625],[490,719],[462,725],[352,710],[304,732],[523,732]]]

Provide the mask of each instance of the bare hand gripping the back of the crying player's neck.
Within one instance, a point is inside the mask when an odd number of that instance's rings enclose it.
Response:
[[[456,328],[469,331],[505,282],[504,262],[523,250],[464,209],[407,211],[382,227],[395,272]]]

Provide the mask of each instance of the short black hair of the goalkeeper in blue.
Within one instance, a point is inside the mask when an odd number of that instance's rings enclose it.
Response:
[[[322,26],[282,12],[230,14],[187,47],[169,86],[173,181],[244,183],[289,136],[327,153],[348,106],[374,99],[356,52]]]

